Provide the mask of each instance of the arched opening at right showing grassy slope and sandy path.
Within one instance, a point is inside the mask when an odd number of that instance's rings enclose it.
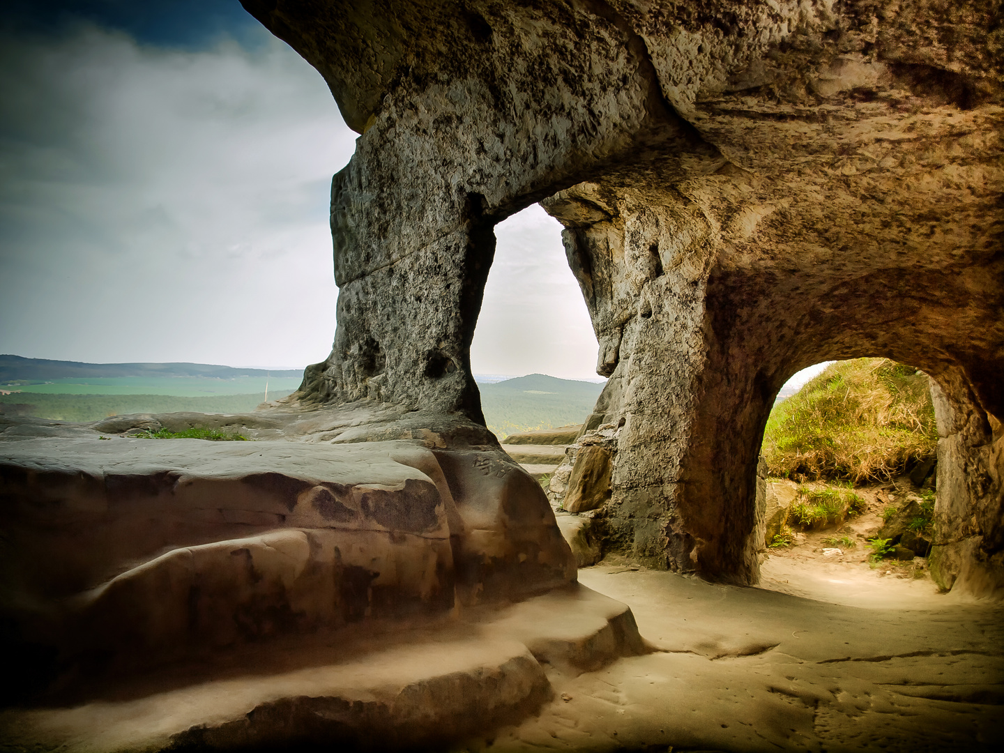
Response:
[[[934,597],[937,446],[924,371],[854,358],[795,374],[761,446],[762,586],[826,600]]]

